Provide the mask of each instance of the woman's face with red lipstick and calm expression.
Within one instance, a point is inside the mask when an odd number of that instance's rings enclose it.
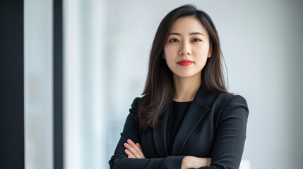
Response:
[[[164,46],[166,63],[178,77],[192,77],[201,70],[210,58],[208,32],[194,17],[178,18]]]

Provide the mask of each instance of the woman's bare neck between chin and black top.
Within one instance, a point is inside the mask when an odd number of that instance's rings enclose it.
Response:
[[[193,101],[201,86],[201,72],[191,77],[179,77],[173,75],[174,79],[174,101]]]

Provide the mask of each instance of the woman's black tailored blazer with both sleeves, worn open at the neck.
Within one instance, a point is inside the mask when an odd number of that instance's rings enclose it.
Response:
[[[249,109],[240,95],[218,94],[198,89],[172,145],[166,147],[167,115],[153,130],[142,130],[136,118],[140,98],[131,104],[124,130],[109,160],[110,168],[181,168],[184,156],[211,158],[211,165],[201,168],[239,168],[246,139]],[[127,158],[127,139],[141,144],[145,158]]]

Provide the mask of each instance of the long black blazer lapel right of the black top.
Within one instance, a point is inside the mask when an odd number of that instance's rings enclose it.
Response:
[[[189,106],[182,123],[179,127],[176,137],[174,138],[174,143],[172,145],[172,154],[178,156],[181,154],[186,140],[189,138],[191,133],[198,127],[205,115],[209,111],[208,100],[213,98],[208,92],[203,91],[202,87],[198,89],[194,101]]]

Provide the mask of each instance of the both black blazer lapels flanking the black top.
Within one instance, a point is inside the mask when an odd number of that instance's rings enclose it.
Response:
[[[210,109],[210,105],[215,99],[215,94],[207,92],[201,86],[196,92],[189,110],[186,112],[184,119],[179,127],[177,135],[172,145],[172,155],[178,156],[181,154],[186,140],[189,138],[191,133],[196,129],[201,120],[205,117]],[[166,146],[166,127],[167,127],[167,115],[163,115],[159,120],[162,121],[160,125],[155,127],[153,130],[153,141],[155,142],[155,150],[159,157],[168,156]]]

